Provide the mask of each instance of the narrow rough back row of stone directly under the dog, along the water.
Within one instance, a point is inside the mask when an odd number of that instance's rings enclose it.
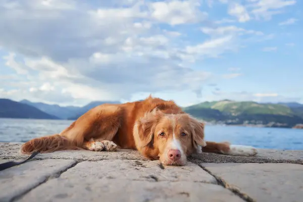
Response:
[[[19,149],[22,143],[0,142],[0,159],[26,159],[28,155],[21,155]],[[303,164],[303,150],[258,149],[256,157],[236,157],[220,154],[203,153],[192,155],[189,161],[199,163],[295,163]],[[100,160],[140,160],[147,161],[137,151],[121,149],[117,152],[68,150],[56,151],[50,154],[38,154],[35,159],[72,159],[75,161]]]

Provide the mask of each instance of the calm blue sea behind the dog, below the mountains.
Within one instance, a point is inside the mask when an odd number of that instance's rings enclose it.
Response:
[[[25,142],[34,137],[55,134],[69,126],[68,120],[0,119],[0,142]],[[206,140],[230,141],[257,148],[303,150],[303,130],[206,126]]]

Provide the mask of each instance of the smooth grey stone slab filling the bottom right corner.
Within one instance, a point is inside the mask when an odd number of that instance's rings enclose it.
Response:
[[[303,201],[303,165],[206,163],[201,166],[257,201]]]

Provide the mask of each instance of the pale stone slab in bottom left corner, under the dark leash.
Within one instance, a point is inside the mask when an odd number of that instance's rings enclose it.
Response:
[[[0,163],[15,160],[0,160]],[[73,160],[29,161],[0,172],[0,201],[11,201],[76,162]]]

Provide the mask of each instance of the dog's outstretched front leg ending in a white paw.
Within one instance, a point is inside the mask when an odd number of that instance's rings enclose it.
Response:
[[[256,156],[258,150],[252,146],[235,145],[229,142],[206,141],[206,146],[202,148],[204,152],[218,153],[232,156]]]

